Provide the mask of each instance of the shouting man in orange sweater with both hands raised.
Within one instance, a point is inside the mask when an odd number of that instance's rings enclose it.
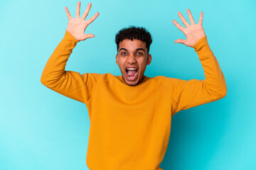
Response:
[[[124,28],[116,35],[116,62],[122,76],[65,71],[73,48],[81,40],[93,38],[85,28],[97,18],[85,21],[91,4],[80,18],[78,2],[75,18],[68,8],[68,28],[55,48],[41,82],[48,88],[85,103],[90,118],[87,147],[89,169],[161,169],[171,130],[171,116],[178,111],[223,98],[227,87],[218,61],[208,46],[201,12],[198,24],[187,10],[191,25],[178,12],[186,40],[175,42],[193,47],[203,65],[206,79],[189,81],[168,77],[146,77],[151,62],[151,35],[144,28]]]

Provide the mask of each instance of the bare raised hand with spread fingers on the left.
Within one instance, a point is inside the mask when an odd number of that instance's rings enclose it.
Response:
[[[68,16],[68,28],[67,28],[67,30],[78,41],[85,40],[87,38],[95,37],[95,35],[93,35],[93,34],[85,34],[85,28],[87,28],[87,26],[90,23],[92,23],[92,21],[95,21],[97,16],[99,16],[99,14],[100,14],[100,13],[97,12],[97,13],[95,13],[94,16],[92,16],[92,18],[85,21],[85,18],[87,17],[92,4],[90,4],[90,3],[88,4],[87,8],[85,9],[85,12],[82,14],[82,17],[79,18],[79,16],[80,16],[80,4],[81,4],[81,2],[78,1],[78,6],[77,6],[77,9],[76,9],[76,12],[75,12],[75,18],[72,18],[72,16],[70,15],[70,13],[68,11],[68,7],[65,6],[65,12],[67,13],[67,16]]]

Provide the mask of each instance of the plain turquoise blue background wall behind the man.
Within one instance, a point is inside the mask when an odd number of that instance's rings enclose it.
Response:
[[[87,169],[90,120],[85,104],[41,84],[48,58],[68,25],[65,6],[75,17],[78,1],[1,1],[0,6],[0,169]],[[255,7],[245,1],[81,1],[91,2],[87,18],[100,16],[85,30],[95,38],[78,42],[66,65],[75,72],[110,72],[115,64],[115,33],[134,25],[152,37],[148,77],[204,79],[193,48],[174,26],[178,11],[190,8],[203,28],[228,85],[225,98],[176,113],[160,167],[168,169],[256,169]]]

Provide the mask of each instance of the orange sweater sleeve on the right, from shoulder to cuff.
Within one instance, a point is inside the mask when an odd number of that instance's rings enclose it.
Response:
[[[189,81],[178,79],[173,86],[173,100],[178,111],[217,101],[227,94],[227,86],[223,72],[220,70],[218,60],[213,55],[206,36],[193,45],[203,66],[206,79],[191,79]]]

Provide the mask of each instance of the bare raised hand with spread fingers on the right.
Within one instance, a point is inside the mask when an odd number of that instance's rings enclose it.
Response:
[[[186,35],[187,39],[186,40],[178,39],[178,40],[175,40],[174,42],[184,44],[188,47],[193,47],[193,45],[195,45],[198,40],[206,36],[202,26],[203,12],[200,13],[198,24],[196,24],[195,21],[193,20],[191,11],[187,9],[187,12],[188,12],[188,18],[189,18],[189,21],[191,22],[191,25],[189,25],[186,19],[182,16],[181,12],[178,12],[178,16],[179,18],[181,18],[181,21],[186,26],[186,28],[184,28],[179,23],[177,23],[177,21],[173,20],[174,25],[179,30],[181,30],[182,33]]]

